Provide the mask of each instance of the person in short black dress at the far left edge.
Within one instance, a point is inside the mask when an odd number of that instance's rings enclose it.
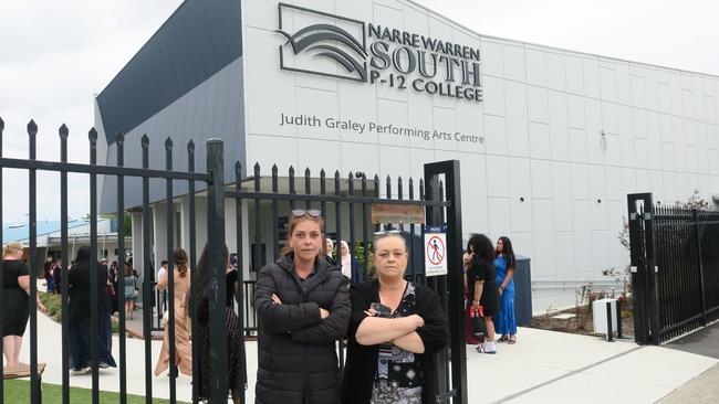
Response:
[[[30,268],[22,262],[24,246],[22,243],[9,243],[2,248],[2,352],[6,357],[6,366],[23,365],[20,358],[22,334],[25,333],[30,307]],[[45,311],[45,307],[37,300],[38,309]]]

